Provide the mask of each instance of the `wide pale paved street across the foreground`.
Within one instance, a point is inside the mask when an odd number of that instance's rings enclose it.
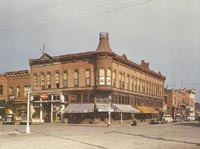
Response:
[[[182,122],[156,125],[0,125],[0,149],[199,149],[200,124]]]

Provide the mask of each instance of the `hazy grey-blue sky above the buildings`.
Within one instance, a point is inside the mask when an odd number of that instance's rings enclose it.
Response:
[[[166,76],[165,87],[195,88],[200,101],[199,0],[1,0],[0,73],[29,59],[95,51],[108,32],[112,50]]]

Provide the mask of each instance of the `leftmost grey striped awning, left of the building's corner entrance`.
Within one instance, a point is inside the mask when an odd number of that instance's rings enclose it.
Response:
[[[63,113],[90,113],[94,112],[93,103],[71,103],[65,109]]]

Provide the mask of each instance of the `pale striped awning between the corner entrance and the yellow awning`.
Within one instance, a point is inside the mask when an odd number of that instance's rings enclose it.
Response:
[[[140,113],[140,111],[131,105],[122,105],[122,104],[113,104],[112,105],[114,112],[121,113]]]

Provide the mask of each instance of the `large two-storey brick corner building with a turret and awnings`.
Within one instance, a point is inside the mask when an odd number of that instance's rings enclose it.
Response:
[[[100,33],[96,51],[30,59],[33,120],[56,121],[62,112],[71,119],[130,118],[135,110],[152,114],[162,109],[165,76],[150,70],[149,63],[136,64],[117,55],[108,33]],[[48,95],[46,100],[41,94]],[[66,108],[67,106],[67,108]]]

